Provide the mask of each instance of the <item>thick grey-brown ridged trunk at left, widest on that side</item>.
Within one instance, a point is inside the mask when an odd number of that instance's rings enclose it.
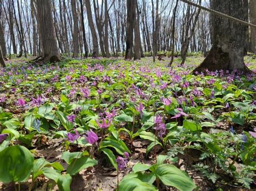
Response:
[[[60,61],[60,54],[53,26],[51,0],[36,0],[39,33],[43,47],[43,61]]]

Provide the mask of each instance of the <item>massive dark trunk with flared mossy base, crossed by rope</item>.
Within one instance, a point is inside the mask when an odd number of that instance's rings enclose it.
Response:
[[[248,12],[244,6],[248,4],[244,1],[247,0],[213,0],[211,9],[245,20]],[[212,16],[212,25],[213,46],[203,63],[193,73],[204,72],[205,69],[248,70],[244,64],[247,26],[218,16]]]

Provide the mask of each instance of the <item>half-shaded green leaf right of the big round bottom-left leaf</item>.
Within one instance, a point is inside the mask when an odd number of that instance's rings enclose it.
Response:
[[[96,164],[97,160],[83,156],[79,159],[74,159],[66,169],[66,172],[73,176],[82,171],[82,169],[95,166]]]

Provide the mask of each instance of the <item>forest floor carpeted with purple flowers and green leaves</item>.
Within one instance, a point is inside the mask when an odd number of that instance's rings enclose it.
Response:
[[[186,190],[190,180],[190,188],[199,190],[256,188],[255,74],[190,74],[202,56],[188,56],[182,67],[176,58],[172,68],[169,58],[66,59],[58,65],[32,65],[29,59],[8,60],[0,70],[0,132],[8,134],[0,140],[0,155],[23,145],[35,158],[21,190],[69,183],[71,190],[114,190],[117,176],[122,191]],[[256,56],[245,56],[245,63],[256,72]],[[100,128],[103,120],[106,129]],[[79,136],[72,141],[74,129]],[[89,129],[96,143],[83,137]],[[119,172],[118,156],[125,159]],[[91,165],[77,164],[81,158]],[[33,178],[39,159],[50,164]],[[163,165],[183,171],[179,186],[172,172],[158,171]],[[14,190],[14,184],[0,182],[0,189]]]

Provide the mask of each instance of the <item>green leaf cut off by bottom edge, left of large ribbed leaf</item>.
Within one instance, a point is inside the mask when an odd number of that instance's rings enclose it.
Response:
[[[141,190],[147,190],[147,191],[156,191],[158,190],[153,185],[150,185],[147,182],[143,182],[137,178],[131,178],[131,179],[124,179],[120,182],[118,190],[125,190],[125,191],[141,191]]]

